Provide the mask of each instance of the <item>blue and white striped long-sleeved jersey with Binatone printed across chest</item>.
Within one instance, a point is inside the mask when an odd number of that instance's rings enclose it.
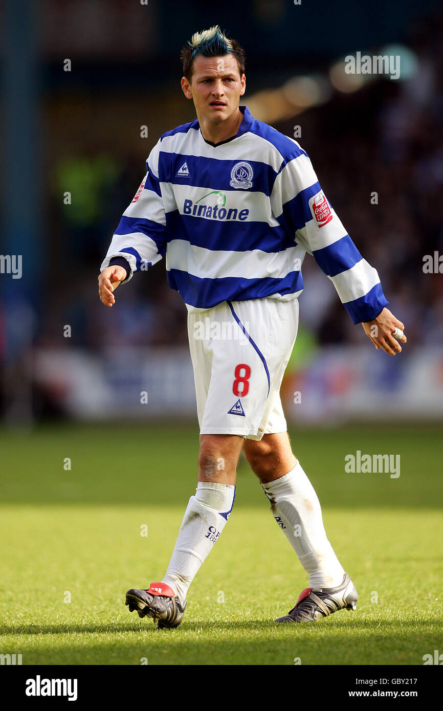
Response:
[[[240,110],[239,131],[220,144],[203,139],[198,121],[163,134],[101,269],[124,257],[129,281],[166,255],[170,287],[200,311],[225,300],[294,299],[308,252],[355,324],[375,318],[388,304],[378,274],[324,196],[309,156]]]

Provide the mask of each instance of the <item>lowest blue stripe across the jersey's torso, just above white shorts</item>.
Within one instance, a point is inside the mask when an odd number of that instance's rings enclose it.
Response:
[[[303,289],[301,272],[289,272],[282,279],[273,277],[201,279],[181,269],[169,269],[166,275],[169,286],[180,292],[185,304],[196,306],[198,309],[212,309],[221,301],[262,299],[277,293],[295,294]]]

